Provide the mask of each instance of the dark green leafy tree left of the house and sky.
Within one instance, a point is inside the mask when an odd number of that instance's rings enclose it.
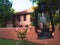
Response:
[[[12,3],[9,0],[0,0],[0,27],[5,27],[11,15],[14,13]]]

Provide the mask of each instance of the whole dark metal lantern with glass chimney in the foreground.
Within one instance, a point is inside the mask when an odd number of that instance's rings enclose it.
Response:
[[[52,33],[55,31],[51,9],[46,3],[38,3],[34,11],[35,14],[35,32],[38,39],[53,38]],[[51,28],[50,28],[51,27]]]

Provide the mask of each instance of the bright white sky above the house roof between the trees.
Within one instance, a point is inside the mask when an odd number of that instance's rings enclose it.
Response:
[[[23,11],[32,6],[30,0],[12,0],[12,1],[13,1],[12,8],[15,11]]]

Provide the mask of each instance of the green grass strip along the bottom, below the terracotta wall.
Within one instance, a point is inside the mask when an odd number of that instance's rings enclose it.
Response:
[[[19,44],[16,44],[18,43]],[[11,39],[2,39],[0,38],[0,45],[21,45],[22,40],[11,40]],[[34,43],[34,42],[30,42],[27,40],[23,40],[24,45],[44,45],[44,44],[38,44],[38,43]]]

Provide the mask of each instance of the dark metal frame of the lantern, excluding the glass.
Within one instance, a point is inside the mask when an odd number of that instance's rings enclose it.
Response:
[[[51,21],[51,25],[52,25],[52,31],[49,31],[49,28],[47,29],[41,29],[41,32],[38,32],[39,26],[38,26],[38,12],[42,13],[42,12],[46,12],[48,11],[49,13],[49,18]],[[52,35],[52,33],[55,31],[54,28],[54,23],[53,23],[53,16],[51,13],[51,9],[46,5],[45,2],[43,3],[38,3],[38,7],[34,10],[34,14],[35,14],[35,32],[38,36],[38,39],[47,39],[47,38],[53,38],[54,36]],[[48,30],[48,31],[46,31]]]

